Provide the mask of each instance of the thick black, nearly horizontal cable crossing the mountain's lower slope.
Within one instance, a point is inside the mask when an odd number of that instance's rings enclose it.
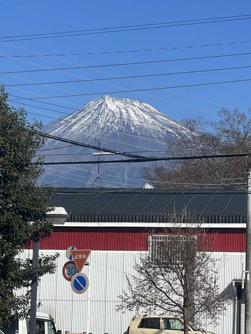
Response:
[[[100,160],[99,163],[131,163],[131,162],[149,162],[149,161],[168,161],[168,160],[194,160],[194,159],[212,159],[212,158],[229,158],[229,157],[247,157],[250,153],[231,153],[231,154],[212,154],[198,156],[179,156],[179,157],[144,157],[137,159],[122,160]],[[69,165],[69,164],[95,164],[98,161],[61,161],[61,162],[45,162],[44,165]]]

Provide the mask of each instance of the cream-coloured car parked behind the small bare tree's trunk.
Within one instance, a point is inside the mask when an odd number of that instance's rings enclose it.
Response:
[[[130,322],[127,334],[184,334],[183,320],[173,315],[137,315]],[[189,325],[191,334],[214,334]]]

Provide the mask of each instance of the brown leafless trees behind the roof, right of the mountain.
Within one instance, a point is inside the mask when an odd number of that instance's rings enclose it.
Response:
[[[177,141],[167,142],[167,155],[251,154],[251,119],[247,113],[222,108],[218,116],[218,122],[207,122],[203,117],[184,119],[187,132],[180,135],[177,129]],[[212,188],[214,184],[217,188],[242,188],[250,163],[251,155],[155,163],[143,170],[143,177],[158,188]]]

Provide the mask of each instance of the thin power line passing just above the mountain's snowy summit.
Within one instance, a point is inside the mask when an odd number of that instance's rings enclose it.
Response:
[[[45,96],[45,97],[40,97],[40,98],[33,98],[33,100],[37,100],[37,99],[53,99],[53,98],[67,98],[67,97],[87,96],[87,95],[105,95],[105,94],[116,94],[116,93],[155,91],[155,90],[162,90],[162,89],[169,89],[169,88],[184,88],[184,87],[208,86],[208,85],[218,85],[220,83],[243,82],[243,81],[250,81],[250,80],[251,79],[229,80],[229,81],[196,83],[196,84],[193,84],[193,85],[169,86],[169,87],[160,87],[160,88],[145,88],[145,89],[136,89],[136,90],[127,90],[127,91],[117,91],[117,92],[103,92],[103,93],[89,93],[89,94],[75,94],[75,95],[60,95],[60,96]],[[15,99],[13,101],[19,101],[19,100],[28,100],[28,99],[27,98],[22,98],[22,99]]]

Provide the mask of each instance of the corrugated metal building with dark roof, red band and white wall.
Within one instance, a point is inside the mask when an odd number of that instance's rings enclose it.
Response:
[[[41,280],[39,311],[50,313],[62,333],[125,332],[134,314],[115,311],[117,296],[127,287],[124,273],[134,274],[134,262],[148,252],[147,228],[154,226],[156,233],[160,233],[166,227],[168,213],[174,207],[180,212],[187,206],[187,211],[204,219],[208,233],[218,232],[213,256],[220,258],[225,254],[220,265],[221,290],[235,280],[236,305],[228,307],[220,325],[206,329],[218,334],[232,333],[236,322],[236,333],[244,333],[241,278],[245,264],[246,203],[243,190],[57,189],[49,205],[64,207],[69,218],[64,224],[55,224],[52,236],[40,242],[40,254],[60,253],[60,257],[57,273]],[[82,270],[90,286],[82,295],[75,294],[62,275],[69,246],[91,249],[89,266]],[[23,256],[31,258],[32,250],[26,249]]]

